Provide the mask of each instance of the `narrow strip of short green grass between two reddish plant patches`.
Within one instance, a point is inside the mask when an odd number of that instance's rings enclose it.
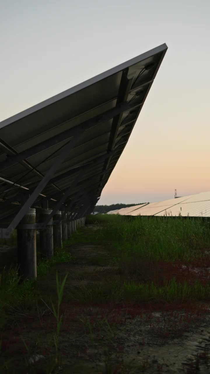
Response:
[[[196,300],[210,300],[210,285],[201,285],[199,281],[189,284],[187,281],[180,283],[176,278],[165,279],[164,285],[158,286],[154,282],[135,282],[120,279],[103,283],[101,285],[84,285],[74,289],[71,300],[82,303],[107,303],[132,301],[132,303],[185,303]]]

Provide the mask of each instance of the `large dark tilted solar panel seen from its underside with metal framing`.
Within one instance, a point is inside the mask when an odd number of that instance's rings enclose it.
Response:
[[[166,53],[160,45],[0,122],[0,237],[29,208],[93,210]],[[36,224],[45,227],[47,222]]]

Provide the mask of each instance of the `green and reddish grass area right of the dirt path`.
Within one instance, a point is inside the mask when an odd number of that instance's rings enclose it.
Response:
[[[104,243],[118,267],[118,279],[84,287],[84,300],[210,300],[208,222],[100,214],[86,222],[99,229],[88,236],[75,233],[69,243]]]

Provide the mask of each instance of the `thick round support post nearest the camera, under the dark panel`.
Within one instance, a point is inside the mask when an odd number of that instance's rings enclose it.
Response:
[[[37,277],[36,230],[24,229],[24,224],[36,222],[36,210],[28,209],[17,227],[19,273],[24,279]]]

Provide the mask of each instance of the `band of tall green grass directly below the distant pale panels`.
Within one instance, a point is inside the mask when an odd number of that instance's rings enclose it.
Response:
[[[101,240],[109,240],[115,257],[139,254],[154,260],[190,260],[200,256],[200,249],[210,248],[210,230],[204,221],[176,217],[121,217],[96,215],[106,225]],[[107,218],[108,217],[108,218]]]

